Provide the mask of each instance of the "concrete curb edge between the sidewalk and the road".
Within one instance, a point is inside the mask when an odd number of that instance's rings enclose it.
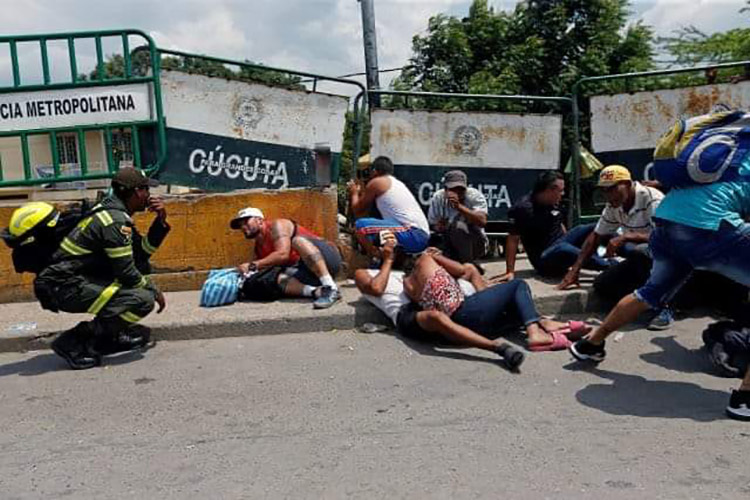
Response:
[[[600,313],[606,305],[586,291],[574,291],[546,297],[535,297],[539,312],[545,315]],[[339,306],[327,313],[294,318],[274,317],[262,320],[229,320],[220,322],[174,323],[152,327],[157,341],[202,340],[228,337],[251,337],[351,330],[365,323],[388,324],[385,315],[364,300],[355,306]],[[49,349],[55,333],[0,338],[0,353]]]

